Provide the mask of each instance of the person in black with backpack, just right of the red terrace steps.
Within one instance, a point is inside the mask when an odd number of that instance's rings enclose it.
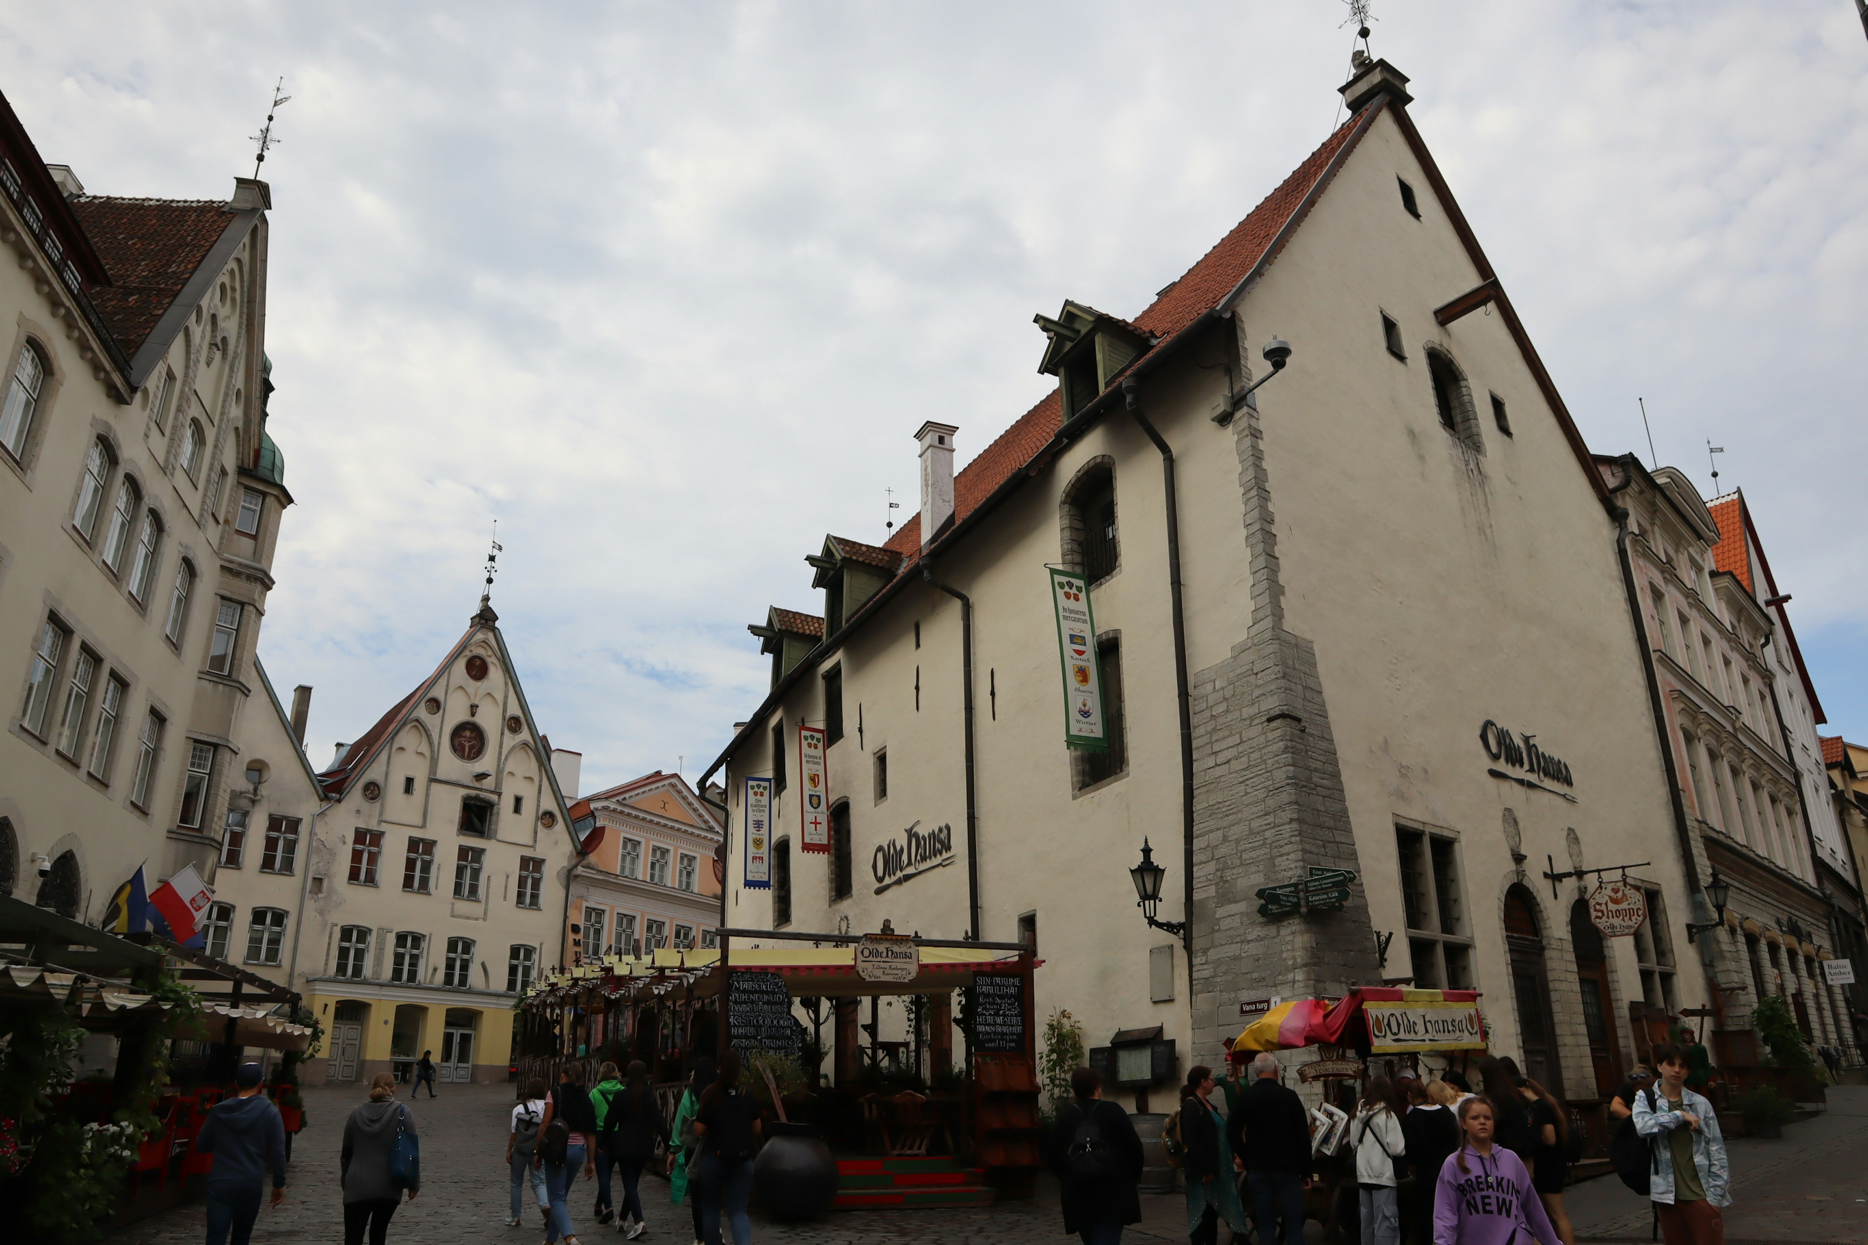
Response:
[[[1070,1073],[1070,1103],[1057,1111],[1046,1163],[1063,1193],[1063,1230],[1083,1245],[1117,1245],[1123,1226],[1141,1223],[1141,1139],[1128,1112],[1102,1101],[1095,1068]]]

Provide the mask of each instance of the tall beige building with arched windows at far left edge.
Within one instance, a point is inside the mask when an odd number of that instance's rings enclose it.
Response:
[[[0,99],[0,892],[95,922],[213,874],[291,504],[265,433],[263,181],[86,194]],[[258,698],[263,707],[263,696]]]

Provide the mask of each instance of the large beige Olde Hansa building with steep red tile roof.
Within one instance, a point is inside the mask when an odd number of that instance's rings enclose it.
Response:
[[[824,607],[757,627],[771,692],[708,771],[729,926],[1035,943],[1039,1017],[1093,1047],[1158,1027],[1175,1075],[1252,1000],[1476,987],[1493,1049],[1614,1088],[1653,956],[1595,933],[1595,877],[1545,874],[1638,864],[1668,948],[1692,913],[1621,510],[1405,84],[1364,65],[1343,127],[1134,319],[1039,315],[1057,392],[956,476],[962,429],[925,424],[921,515],[885,545],[811,547]],[[1093,676],[1067,696],[1052,566],[1087,584],[1104,750],[1065,747]],[[826,732],[824,853],[800,724]],[[1143,840],[1184,935],[1136,911]],[[1337,868],[1337,911],[1261,915]]]

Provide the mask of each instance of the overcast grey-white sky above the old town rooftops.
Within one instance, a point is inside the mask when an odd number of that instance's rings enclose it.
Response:
[[[1868,39],[1849,0],[1380,4],[1375,52],[1590,446],[1752,502],[1868,739]],[[585,790],[766,691],[824,532],[917,504],[1332,129],[1339,0],[0,2],[0,90],[99,194],[224,198],[275,77],[262,657],[355,739],[493,590]]]

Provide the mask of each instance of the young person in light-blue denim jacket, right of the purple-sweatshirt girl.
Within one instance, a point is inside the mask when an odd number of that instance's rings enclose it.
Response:
[[[1666,1245],[1724,1245],[1732,1165],[1719,1112],[1687,1088],[1692,1064],[1679,1045],[1655,1047],[1661,1084],[1634,1096],[1634,1131],[1655,1150],[1648,1196]]]

